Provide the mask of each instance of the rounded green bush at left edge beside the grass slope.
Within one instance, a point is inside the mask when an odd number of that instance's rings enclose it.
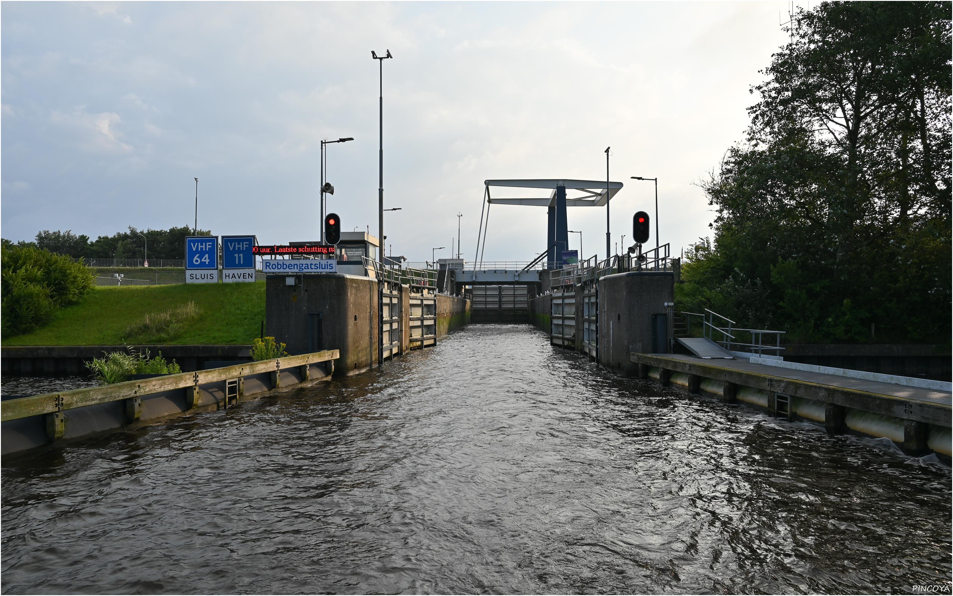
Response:
[[[57,308],[80,301],[92,288],[86,265],[6,240],[0,248],[0,270],[2,331],[12,336],[45,325]]]

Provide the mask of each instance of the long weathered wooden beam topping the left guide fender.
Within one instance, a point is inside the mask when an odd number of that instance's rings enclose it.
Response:
[[[193,373],[165,375],[153,379],[126,380],[100,387],[85,387],[83,389],[7,400],[0,403],[0,421],[6,422],[41,414],[52,414],[61,410],[71,410],[97,403],[141,398],[163,391],[187,389],[205,383],[237,379],[260,373],[271,373],[286,368],[294,368],[295,366],[314,364],[315,362],[337,360],[338,358],[340,358],[340,354],[337,350],[324,350],[298,356],[284,356],[274,360],[242,362],[241,364],[199,370]]]

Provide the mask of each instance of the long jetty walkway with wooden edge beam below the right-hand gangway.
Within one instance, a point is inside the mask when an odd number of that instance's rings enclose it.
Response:
[[[702,360],[682,354],[638,354],[631,360],[666,370],[734,382],[809,400],[860,407],[903,419],[950,425],[951,393],[877,380],[752,363]],[[871,407],[875,405],[875,407]]]

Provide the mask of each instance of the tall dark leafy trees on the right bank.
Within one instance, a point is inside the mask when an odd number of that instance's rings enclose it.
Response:
[[[790,31],[679,294],[789,339],[948,342],[948,5],[823,3]]]

